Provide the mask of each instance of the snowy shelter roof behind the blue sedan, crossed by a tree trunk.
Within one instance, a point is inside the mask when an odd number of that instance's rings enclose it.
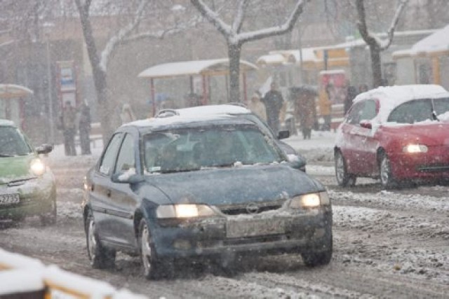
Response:
[[[250,62],[240,60],[242,72],[255,70],[257,67]],[[229,74],[229,59],[192,60],[185,62],[169,62],[149,67],[139,74],[140,78],[170,78],[176,76],[220,76]]]

